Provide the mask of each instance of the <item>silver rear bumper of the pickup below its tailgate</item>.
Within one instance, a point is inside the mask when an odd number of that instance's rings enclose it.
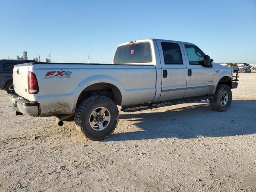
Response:
[[[39,115],[38,102],[31,102],[29,100],[26,100],[23,97],[18,96],[17,94],[9,94],[9,98],[12,104],[12,108],[17,112],[20,112],[29,116]]]

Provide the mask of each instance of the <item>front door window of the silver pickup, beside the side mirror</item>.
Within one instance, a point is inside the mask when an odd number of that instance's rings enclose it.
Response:
[[[196,46],[185,45],[190,65],[201,65],[204,61],[205,54]]]

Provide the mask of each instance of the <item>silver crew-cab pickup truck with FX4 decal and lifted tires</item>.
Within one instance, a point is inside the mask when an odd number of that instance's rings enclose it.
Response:
[[[92,140],[102,140],[118,123],[118,108],[134,112],[184,102],[210,100],[226,111],[237,88],[233,71],[198,46],[145,39],[116,47],[112,64],[30,62],[14,66],[16,114],[56,116],[58,125],[73,117]]]

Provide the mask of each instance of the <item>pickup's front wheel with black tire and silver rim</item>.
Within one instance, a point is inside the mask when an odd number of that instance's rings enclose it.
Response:
[[[223,94],[223,95],[222,95]],[[228,100],[225,95],[228,95]],[[232,92],[229,86],[220,84],[216,88],[216,92],[212,99],[210,99],[210,106],[215,111],[226,111],[232,102]]]

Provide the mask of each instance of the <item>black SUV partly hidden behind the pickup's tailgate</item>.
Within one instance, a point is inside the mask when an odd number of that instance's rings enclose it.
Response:
[[[6,90],[6,92],[13,93],[14,87],[12,83],[12,70],[16,64],[34,62],[32,60],[0,60],[0,89]]]

